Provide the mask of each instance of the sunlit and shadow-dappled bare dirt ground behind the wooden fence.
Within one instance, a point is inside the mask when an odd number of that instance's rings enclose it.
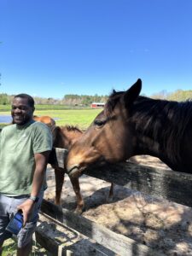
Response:
[[[150,156],[137,156],[131,160],[169,169],[159,159]],[[166,255],[192,255],[191,208],[118,185],[114,186],[113,201],[108,202],[110,183],[85,175],[79,181],[86,206],[82,214],[85,218]],[[50,167],[48,186],[45,199],[54,201],[55,177]],[[75,209],[76,200],[67,176],[61,198],[62,207]]]

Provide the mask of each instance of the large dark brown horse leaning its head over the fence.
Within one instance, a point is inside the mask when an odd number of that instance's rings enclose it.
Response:
[[[115,91],[67,155],[67,173],[79,175],[98,160],[110,163],[148,154],[173,171],[192,173],[192,102],[140,96],[142,80]]]

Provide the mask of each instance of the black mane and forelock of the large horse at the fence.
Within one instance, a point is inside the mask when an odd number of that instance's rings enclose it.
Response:
[[[109,96],[105,113],[110,115],[125,91],[116,92]],[[136,124],[135,129],[148,137],[153,137],[162,145],[161,150],[176,162],[181,157],[181,142],[183,135],[192,123],[192,102],[172,102],[154,100],[138,96],[131,109],[131,120]]]

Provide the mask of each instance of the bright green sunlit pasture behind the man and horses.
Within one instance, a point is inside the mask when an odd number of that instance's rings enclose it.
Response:
[[[63,109],[63,110],[35,110],[35,115],[49,115],[55,119],[56,125],[77,125],[80,129],[86,129],[102,109]],[[9,115],[5,111],[1,115]],[[0,124],[0,126],[3,124]]]

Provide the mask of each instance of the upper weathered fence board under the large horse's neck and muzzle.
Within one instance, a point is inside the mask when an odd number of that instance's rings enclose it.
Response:
[[[60,166],[64,166],[67,155],[65,150],[55,149],[55,164],[59,163]],[[157,195],[166,200],[192,207],[192,175],[188,173],[142,166],[130,162],[91,166],[84,173],[110,183],[119,184],[125,188],[136,189],[148,195]]]

